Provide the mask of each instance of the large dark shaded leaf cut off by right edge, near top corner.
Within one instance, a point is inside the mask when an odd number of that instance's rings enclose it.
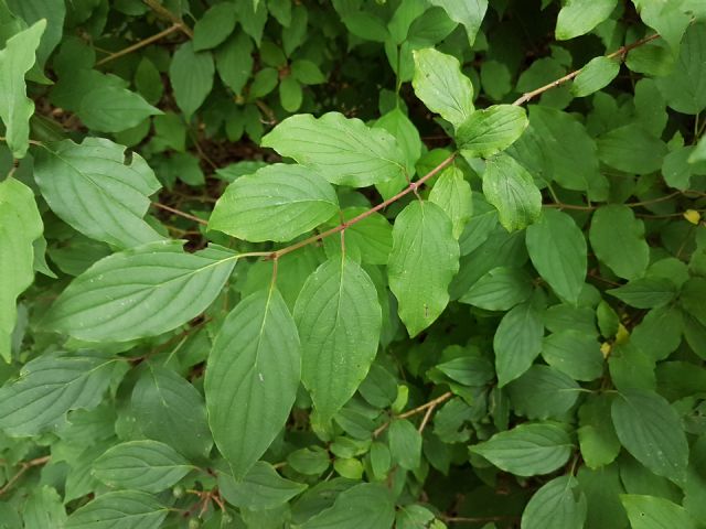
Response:
[[[706,23],[693,24],[680,46],[680,56],[670,75],[654,80],[666,104],[677,112],[696,115],[706,108]]]

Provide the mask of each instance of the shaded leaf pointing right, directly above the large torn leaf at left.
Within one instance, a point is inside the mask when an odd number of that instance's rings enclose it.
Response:
[[[135,91],[119,86],[106,86],[88,91],[81,99],[77,114],[89,129],[100,132],[120,132],[162,111],[152,107]]]

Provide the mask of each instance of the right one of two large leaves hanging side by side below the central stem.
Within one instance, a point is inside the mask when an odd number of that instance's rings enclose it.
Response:
[[[325,421],[353,397],[377,353],[377,291],[360,264],[341,256],[307,279],[295,321],[301,339],[301,380]]]

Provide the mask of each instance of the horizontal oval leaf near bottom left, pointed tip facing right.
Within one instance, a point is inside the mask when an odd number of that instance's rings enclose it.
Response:
[[[192,468],[174,449],[149,440],[113,446],[93,464],[94,475],[109,487],[146,493],[161,493]]]

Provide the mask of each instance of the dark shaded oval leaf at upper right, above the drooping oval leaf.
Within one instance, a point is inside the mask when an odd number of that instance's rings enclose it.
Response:
[[[627,173],[659,171],[666,153],[666,144],[640,125],[625,125],[598,139],[600,161]]]

